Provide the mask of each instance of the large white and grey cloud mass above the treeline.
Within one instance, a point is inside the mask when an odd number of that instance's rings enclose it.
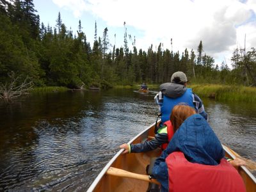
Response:
[[[204,51],[221,60],[243,42],[245,33],[248,46],[256,47],[255,0],[246,3],[238,0],[52,1],[71,10],[75,17],[90,12],[108,26],[120,28],[125,21],[128,29],[132,27],[143,31],[143,37],[136,37],[136,45],[144,50],[150,44],[155,47],[160,42],[164,48],[171,49],[171,38],[173,51],[195,50],[202,40]]]

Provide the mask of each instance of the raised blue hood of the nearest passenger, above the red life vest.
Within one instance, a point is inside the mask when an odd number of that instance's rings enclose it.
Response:
[[[225,156],[220,140],[204,117],[189,116],[175,132],[169,145],[192,163],[216,165]]]

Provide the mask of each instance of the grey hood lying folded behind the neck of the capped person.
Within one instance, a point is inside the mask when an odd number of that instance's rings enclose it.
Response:
[[[183,84],[177,83],[163,83],[160,85],[160,91],[170,98],[177,98],[186,92],[187,88]]]

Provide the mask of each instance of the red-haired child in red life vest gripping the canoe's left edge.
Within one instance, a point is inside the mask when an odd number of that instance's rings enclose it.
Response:
[[[120,145],[120,148],[125,149],[122,154],[148,152],[156,149],[157,147],[161,147],[161,149],[164,150],[172,139],[175,130],[179,128],[186,118],[194,115],[195,113],[196,111],[194,108],[191,108],[184,103],[174,106],[172,115],[168,121],[164,122],[163,127],[157,130],[155,138],[137,144],[124,143]]]

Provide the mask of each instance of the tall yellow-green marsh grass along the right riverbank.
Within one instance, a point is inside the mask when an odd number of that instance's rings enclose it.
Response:
[[[256,101],[256,88],[246,86],[228,86],[220,84],[189,85],[200,97],[210,97],[221,101]]]

